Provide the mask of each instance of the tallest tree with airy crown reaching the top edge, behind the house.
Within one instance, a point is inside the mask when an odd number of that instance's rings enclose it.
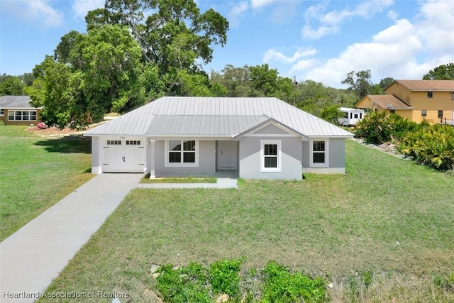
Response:
[[[201,13],[192,0],[107,0],[105,9],[90,12],[86,20],[87,28],[128,26],[143,59],[167,79],[168,95],[187,91],[182,75],[200,75],[201,63],[211,62],[212,47],[225,45],[228,31],[226,18],[213,9]]]

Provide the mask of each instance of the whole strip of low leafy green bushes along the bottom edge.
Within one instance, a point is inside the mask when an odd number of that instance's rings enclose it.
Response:
[[[240,275],[241,263],[237,259],[219,260],[209,268],[194,262],[182,268],[165,264],[157,270],[160,273],[157,290],[165,302],[172,303],[215,302],[218,294],[228,294],[228,302],[328,300],[321,277],[311,279],[301,272],[290,273],[275,262],[267,263],[261,272],[251,269],[246,275]]]

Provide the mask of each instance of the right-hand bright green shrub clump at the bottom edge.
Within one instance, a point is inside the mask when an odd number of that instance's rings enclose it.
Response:
[[[321,277],[311,279],[300,272],[290,273],[275,262],[267,263],[262,273],[265,275],[262,302],[323,302],[326,299],[325,282]]]

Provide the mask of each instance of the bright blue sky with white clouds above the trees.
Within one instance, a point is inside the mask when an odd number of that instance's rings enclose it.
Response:
[[[230,23],[227,44],[204,68],[267,63],[283,77],[341,88],[345,75],[371,70],[421,79],[454,62],[454,1],[196,0]],[[52,55],[62,35],[85,32],[87,11],[104,0],[0,0],[0,74],[22,75]]]

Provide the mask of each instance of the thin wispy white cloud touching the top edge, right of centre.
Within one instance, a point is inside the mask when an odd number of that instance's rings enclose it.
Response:
[[[311,6],[304,13],[306,24],[301,30],[304,38],[319,39],[325,35],[331,35],[339,31],[339,26],[345,19],[353,17],[371,18],[393,4],[393,0],[375,0],[360,2],[354,9],[330,11],[323,14],[326,3]],[[316,21],[319,26],[314,28],[311,23]]]

